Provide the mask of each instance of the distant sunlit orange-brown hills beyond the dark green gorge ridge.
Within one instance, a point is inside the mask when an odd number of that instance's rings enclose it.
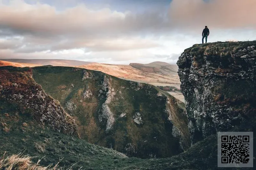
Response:
[[[5,59],[1,59],[1,60],[5,60]],[[74,60],[74,62],[73,60],[71,60],[72,61],[71,63],[69,62],[70,60],[25,60],[25,59],[8,59],[8,60],[27,62],[27,63],[23,64],[23,63],[15,63],[10,61],[0,61],[0,66],[35,67],[35,66],[42,66],[42,65],[52,65],[52,66],[78,67],[78,68],[85,68],[89,70],[101,71],[103,73],[110,74],[125,80],[148,83],[154,86],[174,86],[180,89],[180,80],[177,74],[177,71],[178,71],[177,65],[171,65],[169,70],[170,73],[163,75],[162,73],[156,74],[156,73],[145,72],[143,70],[140,70],[128,65],[100,64],[100,63],[90,63],[90,62],[85,62],[85,65],[81,65],[83,64],[83,61],[76,61],[76,60]],[[41,64],[34,65],[29,63],[41,63]],[[159,62],[159,61],[149,63],[146,65],[150,65],[151,67],[156,67],[156,69],[164,65],[167,65],[168,67],[170,66],[170,64],[168,63]],[[176,91],[176,92],[172,92],[171,95],[175,96],[177,99],[184,102],[184,96],[182,95],[182,93]]]

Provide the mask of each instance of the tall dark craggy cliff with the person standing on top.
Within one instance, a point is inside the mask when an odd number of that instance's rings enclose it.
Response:
[[[186,49],[177,62],[192,142],[256,116],[256,41]]]

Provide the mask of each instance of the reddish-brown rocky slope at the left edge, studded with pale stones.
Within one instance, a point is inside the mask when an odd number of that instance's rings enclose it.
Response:
[[[48,124],[56,131],[78,135],[73,118],[32,79],[31,69],[20,71],[13,67],[1,67],[0,100],[0,105],[2,101],[16,104],[23,113],[29,110],[38,122]]]

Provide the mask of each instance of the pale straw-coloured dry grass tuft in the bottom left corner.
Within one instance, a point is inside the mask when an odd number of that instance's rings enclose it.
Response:
[[[5,157],[5,153],[0,157],[0,169],[5,170],[64,170],[65,167],[59,167],[59,162],[53,166],[40,166],[39,163],[41,159],[38,159],[37,163],[32,162],[32,158],[29,155],[22,155],[22,153],[15,154],[12,156]],[[62,159],[61,159],[62,160]],[[61,161],[60,160],[60,161]],[[67,170],[72,170],[72,167],[66,168]]]

